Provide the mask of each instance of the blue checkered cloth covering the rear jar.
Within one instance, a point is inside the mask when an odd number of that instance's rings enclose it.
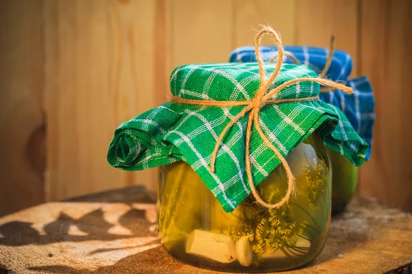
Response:
[[[285,46],[285,51],[290,51],[299,62],[309,66],[314,72],[321,73],[328,59],[329,49],[318,47]],[[265,61],[277,55],[276,47],[261,47],[261,56]],[[231,52],[230,62],[256,62],[254,47],[240,47]],[[293,63],[290,57],[284,56],[284,62]],[[348,95],[343,90],[322,92],[322,101],[336,105],[347,116],[356,132],[369,144],[366,159],[369,160],[372,145],[372,128],[375,121],[374,93],[369,79],[365,76],[350,79],[347,77],[352,71],[352,58],[345,51],[335,50],[332,62],[326,77],[333,81],[343,81],[346,86],[354,90],[354,95]]]

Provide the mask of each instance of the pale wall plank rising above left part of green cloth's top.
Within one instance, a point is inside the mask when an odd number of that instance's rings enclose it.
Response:
[[[233,48],[233,0],[174,0],[170,5],[172,69],[181,64],[227,62]]]

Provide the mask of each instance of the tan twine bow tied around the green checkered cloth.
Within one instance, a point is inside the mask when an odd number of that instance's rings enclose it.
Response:
[[[268,80],[266,80],[266,71],[264,69],[264,62],[262,58],[260,57],[260,51],[259,51],[260,42],[264,34],[270,34],[271,36],[273,36],[273,40],[278,49],[277,59],[280,60],[280,62],[276,63],[275,71],[273,71],[271,77],[269,77]],[[264,26],[263,29],[260,32],[258,32],[258,34],[255,36],[255,56],[256,56],[256,60],[258,61],[258,66],[259,66],[260,87],[258,91],[256,92],[253,100],[251,101],[192,100],[192,99],[183,99],[181,97],[172,96],[172,101],[176,103],[185,103],[189,105],[215,106],[215,107],[222,107],[222,108],[223,107],[233,107],[233,106],[238,106],[238,105],[245,106],[244,109],[239,114],[234,116],[233,119],[231,119],[231,121],[225,126],[225,128],[220,133],[218,140],[216,140],[216,145],[211,154],[210,172],[214,173],[215,171],[216,155],[218,153],[220,143],[225,137],[227,131],[239,119],[242,119],[242,117],[245,116],[249,112],[249,117],[247,120],[244,162],[246,164],[246,173],[247,173],[247,177],[249,181],[249,187],[251,188],[253,197],[255,197],[258,203],[260,203],[262,206],[266,208],[281,207],[282,205],[284,205],[284,203],[288,202],[290,195],[293,195],[296,189],[295,189],[295,177],[293,177],[292,171],[290,171],[290,166],[288,165],[288,162],[286,162],[286,159],[284,158],[284,156],[279,152],[279,150],[275,146],[272,145],[272,143],[268,140],[268,138],[266,138],[266,136],[264,135],[262,131],[262,128],[260,127],[260,123],[259,123],[260,110],[264,108],[265,105],[275,105],[279,103],[297,103],[297,102],[303,102],[303,101],[316,101],[319,99],[319,96],[297,98],[297,99],[271,99],[271,97],[273,97],[273,95],[279,92],[279,90],[282,90],[283,88],[286,88],[287,86],[296,84],[298,82],[306,82],[306,81],[307,82],[317,82],[317,83],[322,84],[323,86],[331,86],[336,89],[341,89],[347,93],[352,93],[352,88],[349,88],[342,84],[332,82],[328,79],[323,79],[321,77],[316,77],[316,78],[301,77],[297,79],[292,79],[288,82],[285,82],[284,84],[277,86],[273,90],[269,90],[267,92],[269,86],[276,79],[280,69],[282,68],[283,55],[284,55],[284,49],[282,47],[282,40],[280,39],[279,34],[277,34],[277,32],[275,32],[271,27]],[[275,153],[277,158],[279,158],[280,162],[284,166],[284,169],[286,171],[286,176],[288,178],[288,190],[286,190],[286,195],[282,198],[282,200],[274,204],[268,204],[265,201],[263,201],[262,198],[260,198],[258,192],[256,191],[255,185],[253,183],[253,176],[251,172],[251,162],[249,159],[249,143],[251,140],[252,125],[255,126],[256,131],[258,132],[260,138],[262,138],[266,146],[269,147]]]

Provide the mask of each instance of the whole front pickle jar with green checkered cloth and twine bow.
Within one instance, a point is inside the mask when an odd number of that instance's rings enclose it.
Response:
[[[264,27],[258,43],[263,34],[275,38],[282,60],[279,35]],[[351,88],[305,65],[257,57],[177,67],[171,101],[117,127],[109,145],[116,168],[160,166],[159,236],[187,264],[243,273],[307,264],[330,223],[325,146],[356,165],[365,160],[367,143],[319,100],[319,83]]]

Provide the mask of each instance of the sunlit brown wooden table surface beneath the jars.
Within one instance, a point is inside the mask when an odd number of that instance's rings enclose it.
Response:
[[[216,273],[161,247],[155,195],[141,186],[56,203],[0,219],[0,273]],[[353,201],[332,219],[325,249],[288,274],[412,273],[412,216]]]

